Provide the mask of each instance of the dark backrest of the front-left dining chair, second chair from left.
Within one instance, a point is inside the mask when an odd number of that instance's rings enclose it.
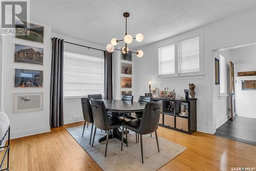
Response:
[[[100,130],[111,130],[111,125],[108,114],[106,114],[104,102],[101,100],[92,100],[92,111],[95,126]]]

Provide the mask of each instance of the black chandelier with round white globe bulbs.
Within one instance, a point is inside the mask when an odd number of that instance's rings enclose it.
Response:
[[[127,34],[127,17],[129,17],[130,14],[128,12],[125,12],[125,13],[123,13],[123,16],[125,17],[125,36],[121,40],[118,40],[117,38],[112,38],[111,41],[110,41],[110,44],[106,45],[106,51],[113,52],[114,50],[118,50],[118,51],[122,51],[122,53],[125,54],[126,56],[127,56],[128,52],[131,52],[131,53],[136,53],[136,55],[138,57],[142,57],[143,56],[143,51],[142,50],[138,50],[137,52],[129,51],[129,49],[127,48],[127,44],[131,44],[133,39],[136,39],[139,42],[142,41],[143,40],[143,34],[138,33],[134,38],[130,34]],[[114,47],[118,44],[119,41],[124,41],[125,42],[125,46],[122,48],[122,50],[115,49],[115,47]]]

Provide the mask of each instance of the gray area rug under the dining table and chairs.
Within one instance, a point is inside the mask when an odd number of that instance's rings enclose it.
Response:
[[[84,130],[83,137],[82,129],[83,126],[76,126],[67,128],[67,131],[103,170],[158,170],[186,149],[159,137],[160,153],[158,153],[155,135],[152,137],[143,135],[144,164],[142,164],[140,143],[136,143],[135,133],[130,131],[127,135],[128,147],[123,143],[123,151],[121,151],[121,141],[116,138],[109,139],[108,151],[104,157],[105,141],[99,143],[98,139],[106,134],[97,129],[92,147],[89,144],[91,125]]]

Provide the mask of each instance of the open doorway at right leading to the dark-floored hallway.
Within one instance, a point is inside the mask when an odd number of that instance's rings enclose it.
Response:
[[[219,49],[214,57],[220,62],[215,135],[256,145],[256,44]]]

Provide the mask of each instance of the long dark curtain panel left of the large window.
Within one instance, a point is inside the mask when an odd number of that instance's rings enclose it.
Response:
[[[50,125],[63,125],[63,39],[52,39],[52,67],[50,82]]]

